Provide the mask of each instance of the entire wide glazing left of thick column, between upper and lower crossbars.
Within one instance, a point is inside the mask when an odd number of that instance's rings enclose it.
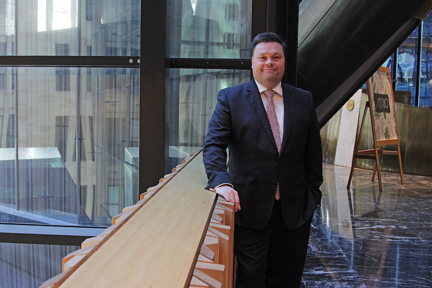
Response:
[[[110,225],[138,200],[139,69],[58,69],[7,70],[0,222]]]

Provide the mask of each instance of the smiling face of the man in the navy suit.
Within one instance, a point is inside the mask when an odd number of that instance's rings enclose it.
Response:
[[[268,89],[281,82],[285,73],[285,55],[277,42],[257,44],[252,55],[252,73],[255,80]]]

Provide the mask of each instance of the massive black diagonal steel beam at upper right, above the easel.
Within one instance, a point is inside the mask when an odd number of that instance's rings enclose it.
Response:
[[[303,0],[298,86],[314,95],[324,125],[421,23],[431,0]]]

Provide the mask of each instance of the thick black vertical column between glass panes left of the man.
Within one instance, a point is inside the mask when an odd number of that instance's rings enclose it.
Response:
[[[169,78],[167,8],[166,1],[149,5],[148,1],[141,0],[140,54],[146,58],[141,61],[139,71],[139,193],[163,177],[165,155],[168,155],[168,145],[164,142],[165,78]]]

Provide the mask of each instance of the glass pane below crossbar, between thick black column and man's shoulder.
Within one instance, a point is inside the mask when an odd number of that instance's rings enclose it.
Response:
[[[166,94],[165,138],[169,145],[169,166],[181,163],[198,150],[217,103],[219,90],[249,82],[249,70],[171,69],[170,91]]]

